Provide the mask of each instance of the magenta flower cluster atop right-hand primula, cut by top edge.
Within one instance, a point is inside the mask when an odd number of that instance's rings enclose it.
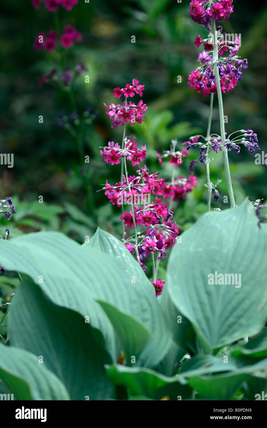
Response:
[[[233,12],[233,0],[221,0],[211,3],[209,0],[192,0],[190,2],[190,16],[197,24],[208,27],[210,21],[228,19]]]

